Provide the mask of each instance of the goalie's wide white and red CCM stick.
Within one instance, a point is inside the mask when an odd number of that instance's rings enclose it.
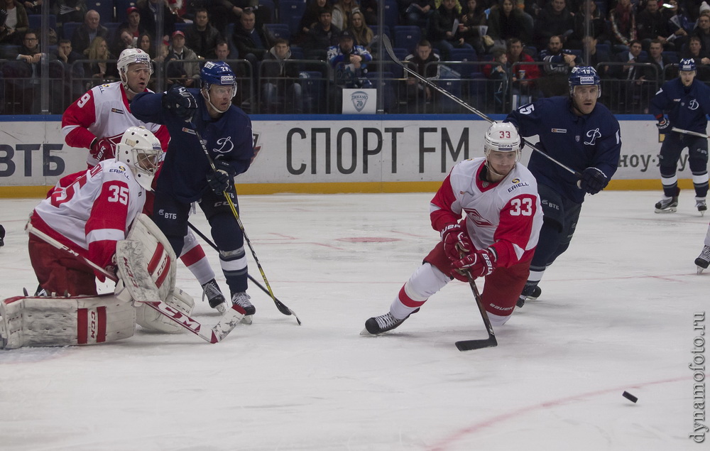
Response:
[[[44,232],[38,229],[35,229],[29,222],[27,223],[26,230],[27,232],[35,235],[35,237],[38,237],[45,243],[54,246],[60,251],[65,251],[67,254],[73,256],[75,259],[82,261],[84,264],[89,266],[89,268],[94,269],[94,271],[99,271],[99,273],[102,273],[104,276],[111,279],[111,281],[116,282],[119,280],[115,274],[110,273],[109,271],[97,265],[93,261],[87,259],[84,256],[81,256],[79,253],[70,249],[68,246],[65,246],[64,244],[60,243],[60,241],[50,237],[48,234],[45,234]],[[175,324],[180,325],[180,327],[189,330],[193,334],[197,335],[197,337],[200,337],[210,343],[217,343],[222,341],[222,339],[229,335],[229,332],[231,332],[231,330],[233,330],[234,327],[239,324],[245,313],[244,309],[239,307],[239,305],[232,305],[232,307],[227,310],[224,315],[222,315],[222,318],[219,320],[219,322],[217,322],[216,325],[214,325],[214,327],[212,327],[212,329],[206,330],[206,328],[202,327],[200,322],[198,322],[197,320],[193,320],[191,317],[185,315],[185,313],[180,312],[180,310],[176,310],[175,308],[170,307],[170,305],[164,303],[160,299],[141,301],[141,303],[146,304],[149,308],[152,308],[153,310],[160,313],[160,315],[168,317],[168,319],[175,322]]]

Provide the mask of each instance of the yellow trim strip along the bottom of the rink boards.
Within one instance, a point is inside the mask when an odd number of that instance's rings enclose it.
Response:
[[[436,192],[441,182],[369,182],[369,183],[237,183],[241,195],[276,194],[335,194],[339,192]],[[678,180],[684,190],[693,188],[692,180]],[[0,198],[46,197],[48,186],[0,186]],[[607,190],[662,190],[659,179],[611,180]]]

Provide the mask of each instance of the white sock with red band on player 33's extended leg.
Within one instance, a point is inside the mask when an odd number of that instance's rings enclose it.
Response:
[[[398,320],[408,317],[427,302],[431,295],[441,290],[451,279],[430,263],[414,271],[390,306],[390,313]]]

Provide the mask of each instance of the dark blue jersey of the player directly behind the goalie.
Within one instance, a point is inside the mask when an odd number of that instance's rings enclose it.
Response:
[[[249,116],[232,105],[218,119],[212,119],[200,89],[187,90],[197,99],[192,123],[200,131],[209,155],[213,160],[229,162],[237,175],[246,172],[254,155]],[[163,95],[141,92],[131,102],[131,112],[141,121],[165,124],[170,131],[168,152],[155,189],[170,193],[180,202],[195,202],[209,190],[206,176],[212,168],[190,124],[163,109]]]

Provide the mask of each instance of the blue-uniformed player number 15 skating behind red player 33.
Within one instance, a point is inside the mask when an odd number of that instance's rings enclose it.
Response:
[[[536,147],[581,173],[581,180],[557,163],[533,151],[528,169],[537,180],[543,222],[530,276],[518,300],[537,298],[537,283],[545,268],[567,250],[577,227],[584,195],[603,190],[616,173],[621,131],[611,112],[597,102],[601,96],[594,67],[578,66],[569,75],[569,96],[539,99],[508,114],[526,138],[538,135]]]

